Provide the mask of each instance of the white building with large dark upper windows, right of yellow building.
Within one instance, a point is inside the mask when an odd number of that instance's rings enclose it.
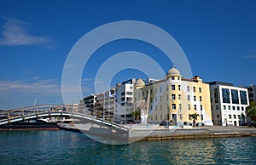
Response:
[[[213,124],[241,126],[246,122],[246,108],[249,105],[247,88],[234,87],[232,83],[209,84]]]

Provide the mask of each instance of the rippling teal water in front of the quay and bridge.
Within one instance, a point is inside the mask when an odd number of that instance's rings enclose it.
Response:
[[[0,132],[0,164],[256,164],[256,137],[106,145],[62,130]]]

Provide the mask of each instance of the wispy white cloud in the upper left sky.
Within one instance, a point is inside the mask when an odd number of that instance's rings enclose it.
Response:
[[[0,45],[18,46],[49,43],[49,39],[46,37],[36,37],[29,34],[26,31],[26,25],[28,23],[21,20],[7,20],[2,27],[3,38],[0,38]]]

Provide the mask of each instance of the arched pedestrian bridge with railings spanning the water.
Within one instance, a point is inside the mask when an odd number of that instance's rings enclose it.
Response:
[[[63,107],[65,107],[65,105],[36,105],[28,106],[22,109],[0,111],[0,117],[2,118],[0,119],[0,126],[12,122],[22,122],[42,117],[70,117],[71,119],[76,118],[82,120],[83,122],[92,122],[120,131],[129,131],[128,128],[125,128],[117,123],[86,115],[84,111],[73,111],[72,108],[69,109]]]

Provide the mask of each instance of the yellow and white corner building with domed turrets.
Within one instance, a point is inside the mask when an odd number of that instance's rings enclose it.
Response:
[[[197,113],[197,124],[213,125],[209,84],[200,77],[183,78],[172,66],[165,79],[138,79],[135,86],[135,110],[141,111],[142,123],[171,121],[182,126],[193,122],[189,114]]]

